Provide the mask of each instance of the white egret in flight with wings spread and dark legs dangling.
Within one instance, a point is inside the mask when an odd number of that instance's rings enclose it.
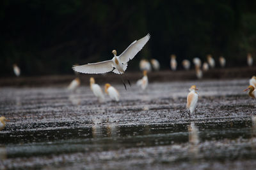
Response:
[[[127,69],[127,62],[135,57],[135,55],[140,52],[143,46],[147,43],[150,35],[147,34],[144,38],[135,40],[129,45],[123,53],[119,56],[116,56],[116,50],[113,50],[112,53],[114,55],[113,59],[105,60],[102,62],[84,64],[82,66],[73,66],[74,71],[79,73],[87,73],[87,74],[100,74],[100,73],[108,73],[109,71],[113,71],[116,74],[124,74]],[[122,77],[122,76],[121,76]],[[129,85],[131,83],[127,80]],[[124,80],[123,80],[124,83]],[[124,87],[126,89],[126,85],[124,83]]]

